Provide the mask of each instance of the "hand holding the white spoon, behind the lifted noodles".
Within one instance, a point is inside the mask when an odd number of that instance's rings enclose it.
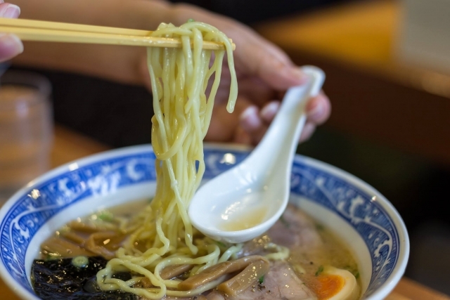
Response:
[[[236,44],[234,59],[239,94],[235,112],[229,114],[225,109],[229,80],[224,74],[205,141],[256,145],[274,119],[285,91],[304,84],[304,74],[280,48],[235,20],[185,4],[176,6],[175,15],[177,25],[188,18],[207,22],[225,32]],[[224,72],[228,70],[225,65]],[[330,111],[330,101],[323,92],[309,100],[307,123],[300,141],[306,141],[316,126],[328,119]]]

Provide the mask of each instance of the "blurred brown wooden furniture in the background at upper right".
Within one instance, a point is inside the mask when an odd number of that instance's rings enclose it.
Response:
[[[450,76],[402,60],[401,11],[400,1],[354,1],[256,29],[325,70],[328,126],[450,166]]]

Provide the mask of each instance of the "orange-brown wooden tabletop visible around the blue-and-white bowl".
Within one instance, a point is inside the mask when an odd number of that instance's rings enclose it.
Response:
[[[56,126],[51,162],[53,167],[65,164],[74,159],[108,150],[108,147],[81,136],[74,131]],[[18,300],[18,296],[0,279],[0,299]],[[423,285],[403,278],[387,300],[450,300],[449,296],[439,294]]]

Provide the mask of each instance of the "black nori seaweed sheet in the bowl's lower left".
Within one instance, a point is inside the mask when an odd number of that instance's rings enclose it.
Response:
[[[71,258],[37,259],[32,266],[34,292],[44,300],[136,300],[134,294],[99,289],[96,274],[106,263],[101,256],[89,257],[84,268],[73,266]],[[113,277],[129,280],[131,274],[117,273]]]

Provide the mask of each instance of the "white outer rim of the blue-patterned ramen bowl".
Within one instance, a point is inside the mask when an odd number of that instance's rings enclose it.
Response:
[[[232,143],[226,144],[205,143],[204,148],[207,150],[231,150],[238,152],[249,152],[250,150],[252,150],[252,147]],[[134,145],[113,150],[106,150],[103,152],[96,153],[94,155],[88,155],[86,157],[75,159],[71,162],[68,162],[59,167],[51,169],[50,171],[47,171],[46,173],[42,174],[41,176],[35,178],[34,180],[24,185],[23,188],[20,188],[20,190],[14,193],[14,195],[12,195],[5,202],[4,206],[1,207],[0,209],[0,223],[1,223],[0,227],[3,226],[4,217],[6,216],[7,212],[11,209],[11,207],[13,207],[13,205],[20,199],[20,197],[25,195],[25,193],[28,190],[30,190],[30,188],[32,188],[33,186],[39,185],[40,183],[44,183],[45,181],[48,181],[50,178],[53,178],[65,172],[74,171],[79,167],[84,167],[91,163],[98,162],[99,160],[108,160],[120,155],[133,155],[135,153],[148,152],[148,150],[153,152],[153,148],[150,144]],[[384,299],[388,294],[390,294],[390,292],[392,292],[394,287],[403,277],[409,259],[409,250],[410,250],[409,235],[408,231],[406,230],[404,221],[403,219],[401,219],[401,216],[399,215],[397,209],[394,208],[393,204],[389,200],[387,200],[387,198],[384,197],[383,194],[381,194],[378,190],[373,188],[372,185],[366,183],[362,179],[350,174],[349,172],[343,169],[335,167],[326,162],[321,162],[319,159],[314,159],[304,155],[297,154],[295,155],[294,160],[297,162],[307,164],[308,166],[313,167],[315,169],[325,171],[326,173],[329,173],[333,176],[345,179],[345,181],[347,181],[351,185],[354,185],[356,188],[374,194],[376,195],[376,197],[378,197],[379,200],[378,204],[381,207],[383,207],[383,209],[385,209],[385,212],[392,219],[392,222],[394,223],[394,226],[395,228],[397,228],[397,231],[399,233],[399,242],[403,246],[399,247],[399,259],[397,260],[397,264],[396,266],[394,266],[390,276],[383,283],[383,285],[380,285],[380,287],[378,287],[377,290],[373,292],[373,294],[365,298],[368,300]],[[13,292],[16,295],[18,295],[21,299],[39,300],[39,298],[35,294],[32,294],[30,291],[28,291],[21,285],[17,284],[14,278],[11,275],[9,275],[8,270],[6,270],[6,267],[4,266],[4,262],[1,260],[0,260],[0,277],[4,280],[6,285],[8,285],[8,287],[12,289]]]

